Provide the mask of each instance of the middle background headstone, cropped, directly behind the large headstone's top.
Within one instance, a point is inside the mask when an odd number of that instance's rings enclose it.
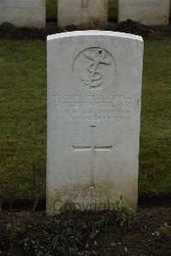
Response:
[[[58,26],[80,24],[105,25],[108,0],[58,0]]]

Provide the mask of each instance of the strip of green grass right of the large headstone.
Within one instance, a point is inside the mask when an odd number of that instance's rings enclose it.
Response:
[[[171,192],[171,41],[144,50],[139,195]]]

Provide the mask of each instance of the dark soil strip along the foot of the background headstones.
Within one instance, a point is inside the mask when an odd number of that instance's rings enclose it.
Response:
[[[69,26],[60,28],[56,26],[55,22],[47,23],[47,26],[42,29],[37,28],[15,28],[10,23],[0,26],[0,38],[3,39],[41,39],[45,40],[46,36],[53,33],[62,33],[74,30],[86,30],[86,29],[100,29],[118,31],[122,33],[133,33],[142,36],[144,39],[171,39],[171,23],[168,26],[147,27],[136,21],[122,21],[120,23],[109,22],[107,27],[102,26]]]

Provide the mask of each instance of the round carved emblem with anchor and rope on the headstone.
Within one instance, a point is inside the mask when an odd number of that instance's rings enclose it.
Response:
[[[80,52],[74,60],[77,82],[89,90],[115,85],[115,60],[108,51],[94,47]]]

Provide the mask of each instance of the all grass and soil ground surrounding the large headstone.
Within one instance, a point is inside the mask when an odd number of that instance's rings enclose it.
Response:
[[[44,210],[45,199],[46,46],[36,32],[18,30],[0,39],[1,255],[170,255],[168,33],[144,42],[139,211],[136,221],[121,227],[114,212],[70,211],[55,219],[44,211],[21,210]],[[23,33],[25,40],[19,39]],[[28,40],[30,33],[35,39]]]

